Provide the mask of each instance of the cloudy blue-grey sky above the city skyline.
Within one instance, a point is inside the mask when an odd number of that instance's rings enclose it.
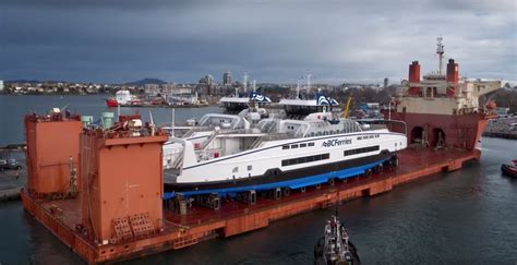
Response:
[[[398,83],[435,41],[469,77],[517,81],[515,0],[2,0],[0,80]]]

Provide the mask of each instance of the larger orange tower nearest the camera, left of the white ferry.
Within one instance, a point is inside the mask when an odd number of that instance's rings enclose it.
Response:
[[[161,145],[167,136],[81,134],[82,222],[100,244],[132,241],[163,227]]]

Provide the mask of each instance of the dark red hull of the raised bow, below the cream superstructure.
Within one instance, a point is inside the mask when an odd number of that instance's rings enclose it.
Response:
[[[384,113],[387,119],[387,113]],[[483,113],[426,115],[392,112],[392,119],[405,121],[408,143],[423,142],[431,147],[476,148],[486,127],[489,116]]]

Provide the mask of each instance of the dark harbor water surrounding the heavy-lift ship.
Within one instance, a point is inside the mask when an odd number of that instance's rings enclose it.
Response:
[[[0,146],[23,143],[23,115],[70,104],[93,115],[107,109],[103,96],[0,96]],[[157,123],[171,109],[139,110]],[[200,118],[217,107],[177,109],[176,120]],[[501,164],[517,158],[517,141],[482,138],[479,164],[436,174],[337,209],[365,264],[516,264],[517,180],[501,176]],[[334,209],[320,209],[266,229],[216,239],[127,264],[311,264],[313,245]],[[23,209],[0,203],[0,264],[82,264],[83,262]]]

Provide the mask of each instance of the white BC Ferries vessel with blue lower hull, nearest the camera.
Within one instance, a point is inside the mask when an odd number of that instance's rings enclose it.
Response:
[[[393,161],[406,148],[404,133],[385,127],[332,119],[316,112],[304,120],[263,119],[254,128],[217,129],[203,145],[181,145],[166,171],[167,196],[299,189],[346,179]]]

